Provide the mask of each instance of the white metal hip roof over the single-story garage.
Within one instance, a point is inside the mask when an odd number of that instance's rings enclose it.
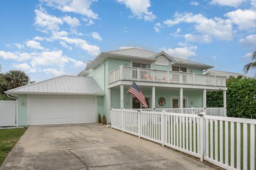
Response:
[[[5,91],[6,94],[105,95],[99,84],[89,77],[62,75]]]

